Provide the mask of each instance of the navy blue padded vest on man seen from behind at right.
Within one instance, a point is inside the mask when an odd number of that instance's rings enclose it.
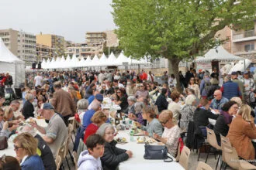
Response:
[[[234,83],[233,81],[227,81],[226,83],[223,83],[220,91],[222,92],[223,97],[226,97],[228,100],[230,100],[232,97],[241,97],[238,84]]]

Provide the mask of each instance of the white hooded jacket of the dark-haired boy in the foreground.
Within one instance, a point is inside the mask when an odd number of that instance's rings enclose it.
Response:
[[[102,170],[100,158],[89,155],[88,150],[82,151],[78,158],[78,170]]]

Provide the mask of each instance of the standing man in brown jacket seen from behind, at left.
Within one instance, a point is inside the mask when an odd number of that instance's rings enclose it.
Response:
[[[64,122],[68,124],[68,118],[75,113],[74,100],[71,95],[61,89],[61,82],[54,83],[54,97],[50,100],[50,103],[54,106],[57,113],[61,114],[64,118]]]

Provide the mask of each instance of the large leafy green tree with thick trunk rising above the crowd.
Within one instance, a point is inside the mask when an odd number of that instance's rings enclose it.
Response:
[[[225,26],[251,26],[255,0],[112,0],[112,8],[124,53],[167,58],[180,87],[178,63],[215,46]]]

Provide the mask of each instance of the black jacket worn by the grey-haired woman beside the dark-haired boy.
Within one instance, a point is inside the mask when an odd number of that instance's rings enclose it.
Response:
[[[104,155],[101,158],[104,170],[114,170],[120,162],[126,161],[129,158],[126,150],[116,148],[116,141],[105,142],[104,148]]]

